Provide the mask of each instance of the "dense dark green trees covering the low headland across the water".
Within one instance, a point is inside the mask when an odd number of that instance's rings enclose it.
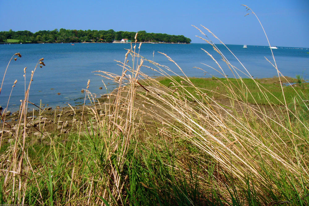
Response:
[[[104,30],[70,30],[54,29],[53,31],[2,31],[0,32],[0,42],[7,42],[8,39],[19,40],[18,43],[68,43],[68,42],[113,42],[121,39],[135,41],[136,32],[115,32],[110,29]],[[139,31],[137,36],[138,42],[165,42],[165,43],[186,43],[189,44],[191,39],[183,35],[169,35],[161,33],[147,33]]]

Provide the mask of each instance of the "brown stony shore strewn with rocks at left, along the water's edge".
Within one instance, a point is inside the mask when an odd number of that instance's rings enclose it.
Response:
[[[102,97],[99,101],[103,102],[106,98]],[[2,114],[2,118],[5,119],[5,124],[3,126],[3,119],[0,124],[0,135],[2,134],[2,143],[9,141],[15,141],[15,136],[18,128],[22,133],[23,128],[26,129],[27,136],[41,137],[43,140],[49,137],[52,133],[55,134],[66,134],[69,132],[76,131],[81,125],[83,125],[82,114],[86,121],[94,120],[93,111],[90,109],[93,106],[77,106],[77,107],[47,107],[43,110],[32,110],[28,111],[26,115],[26,123],[24,120],[20,122],[19,127],[19,111],[11,113],[11,111],[6,111]],[[104,109],[96,105],[98,114],[105,114]],[[1,110],[1,113],[3,109]],[[90,115],[92,114],[92,115]],[[91,121],[92,128],[96,132],[97,125],[96,121]],[[90,130],[90,124],[87,125],[87,129]],[[82,132],[86,132],[86,127],[82,127]]]

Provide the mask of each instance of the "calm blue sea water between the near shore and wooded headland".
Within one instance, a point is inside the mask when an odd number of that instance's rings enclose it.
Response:
[[[107,93],[103,87],[102,78],[95,75],[92,71],[103,70],[120,74],[122,68],[114,60],[123,61],[129,44],[6,44],[0,45],[0,77],[2,79],[8,61],[14,53],[21,53],[22,58],[17,57],[17,61],[12,61],[9,65],[2,91],[0,95],[0,105],[6,107],[8,96],[11,92],[15,79],[18,80],[11,95],[9,110],[17,110],[20,105],[20,99],[24,95],[23,68],[27,67],[27,85],[31,70],[34,69],[37,61],[44,57],[46,66],[37,68],[34,74],[34,81],[30,89],[29,101],[37,105],[40,99],[43,104],[49,104],[50,107],[64,106],[66,103],[76,104],[82,102],[84,94],[82,89],[87,87],[88,79],[91,80],[89,90],[97,95]],[[241,65],[222,45],[218,45],[222,53],[237,68],[244,71]],[[266,61],[267,57],[272,61],[270,48],[264,46],[248,46],[244,49],[242,45],[228,45],[233,53],[239,58],[243,65],[248,69],[254,78],[273,77],[277,75],[273,66]],[[181,74],[179,69],[162,54],[163,52],[170,56],[184,70],[188,76],[192,77],[210,77],[222,76],[214,69],[207,67],[210,65],[215,69],[218,66],[213,60],[201,50],[205,49],[211,53],[222,68],[225,74],[232,77],[230,69],[220,60],[220,56],[214,52],[208,44],[142,44],[140,54],[150,60],[154,60],[161,65],[167,65],[174,72]],[[153,52],[155,55],[153,56]],[[309,74],[309,49],[308,48],[284,48],[273,49],[278,69],[285,76],[295,77],[297,74],[303,75],[308,79]],[[200,67],[207,71],[203,72]],[[149,76],[158,74],[151,69],[142,70]],[[241,75],[246,77],[245,74]],[[108,89],[111,90],[115,85],[104,79]],[[57,95],[61,93],[61,95]]]

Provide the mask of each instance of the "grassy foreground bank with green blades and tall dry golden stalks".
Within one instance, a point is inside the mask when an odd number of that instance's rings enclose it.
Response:
[[[118,62],[121,75],[95,72],[119,86],[105,102],[85,90],[93,105],[72,108],[72,132],[44,135],[40,127],[41,135],[28,135],[29,82],[18,127],[0,148],[1,203],[309,204],[306,83],[283,86],[295,80],[282,75],[268,83],[169,76],[137,46]]]

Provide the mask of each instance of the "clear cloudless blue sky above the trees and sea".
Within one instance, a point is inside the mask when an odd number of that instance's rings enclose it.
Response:
[[[309,0],[0,0],[0,31],[82,29],[167,33],[203,43],[204,25],[225,44],[309,48]],[[217,43],[217,42],[215,42]]]

